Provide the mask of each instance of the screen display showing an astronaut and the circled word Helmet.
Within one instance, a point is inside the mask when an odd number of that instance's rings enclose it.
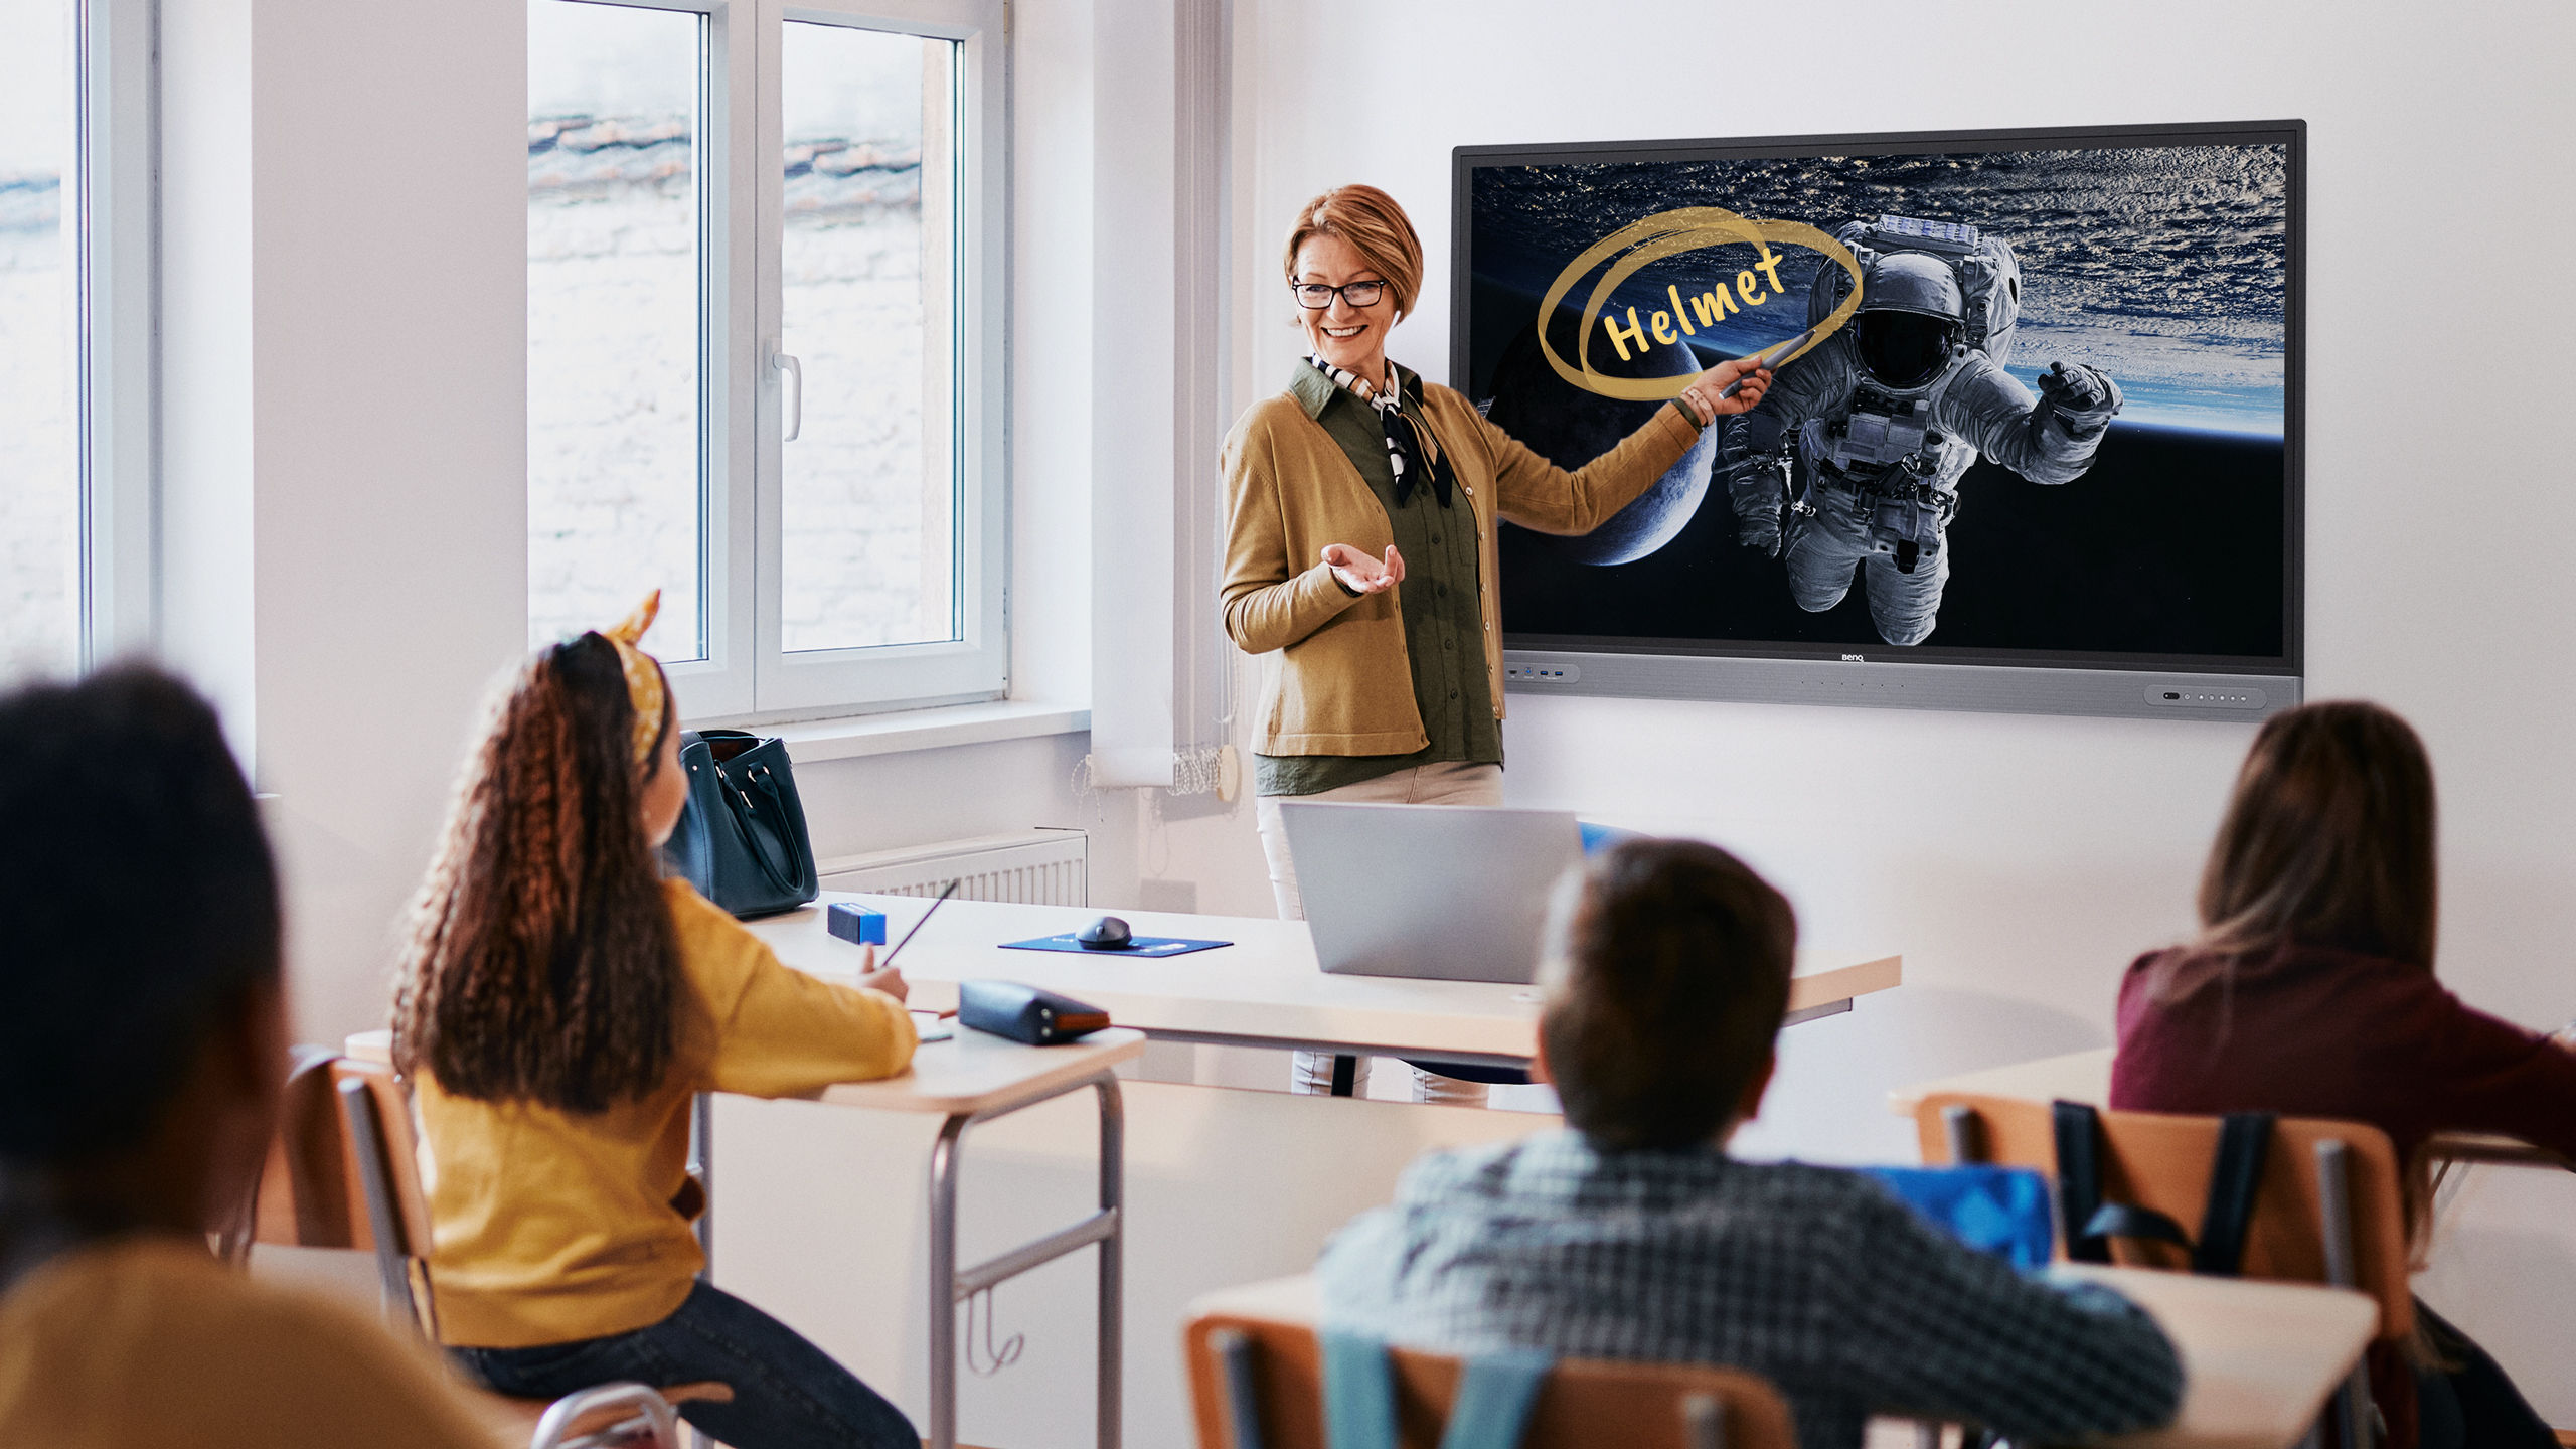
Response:
[[[1579,467],[1785,361],[1602,529],[1504,526],[1515,647],[2285,660],[2287,147],[1600,155],[1463,157],[1461,389]]]

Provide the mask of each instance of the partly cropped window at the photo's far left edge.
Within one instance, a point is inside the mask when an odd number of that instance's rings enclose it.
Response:
[[[0,5],[0,678],[149,637],[147,23]]]

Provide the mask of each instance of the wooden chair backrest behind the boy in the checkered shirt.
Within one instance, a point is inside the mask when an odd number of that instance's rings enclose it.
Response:
[[[1203,1312],[1188,1328],[1198,1449],[1327,1449],[1324,1356],[1306,1323]],[[1394,1351],[1404,1449],[1435,1449],[1458,1359]],[[1236,1431],[1244,1405],[1257,1431]],[[1566,1359],[1548,1372],[1522,1449],[1795,1449],[1788,1403],[1754,1374],[1698,1364]]]

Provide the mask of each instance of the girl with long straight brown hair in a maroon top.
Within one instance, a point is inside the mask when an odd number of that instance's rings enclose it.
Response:
[[[2416,732],[2378,704],[2275,714],[2200,874],[2200,938],[2138,957],[2120,982],[2110,1104],[2367,1122],[2409,1165],[2434,1132],[2576,1155],[2576,1052],[2434,980],[2434,897]],[[2427,1449],[2555,1446],[2494,1359],[2421,1302],[2416,1315],[2419,1366],[2372,1359],[2391,1449],[2419,1426]]]

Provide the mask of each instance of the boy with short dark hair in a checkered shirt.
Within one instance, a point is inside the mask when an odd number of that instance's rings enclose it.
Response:
[[[1540,1067],[1569,1132],[1414,1163],[1316,1274],[1327,1320],[1443,1351],[1723,1364],[1806,1449],[1873,1413],[2058,1444],[2166,1423],[2172,1343],[2094,1284],[2014,1274],[1857,1173],[1739,1163],[1798,926],[1741,861],[1625,841],[1558,900]]]

